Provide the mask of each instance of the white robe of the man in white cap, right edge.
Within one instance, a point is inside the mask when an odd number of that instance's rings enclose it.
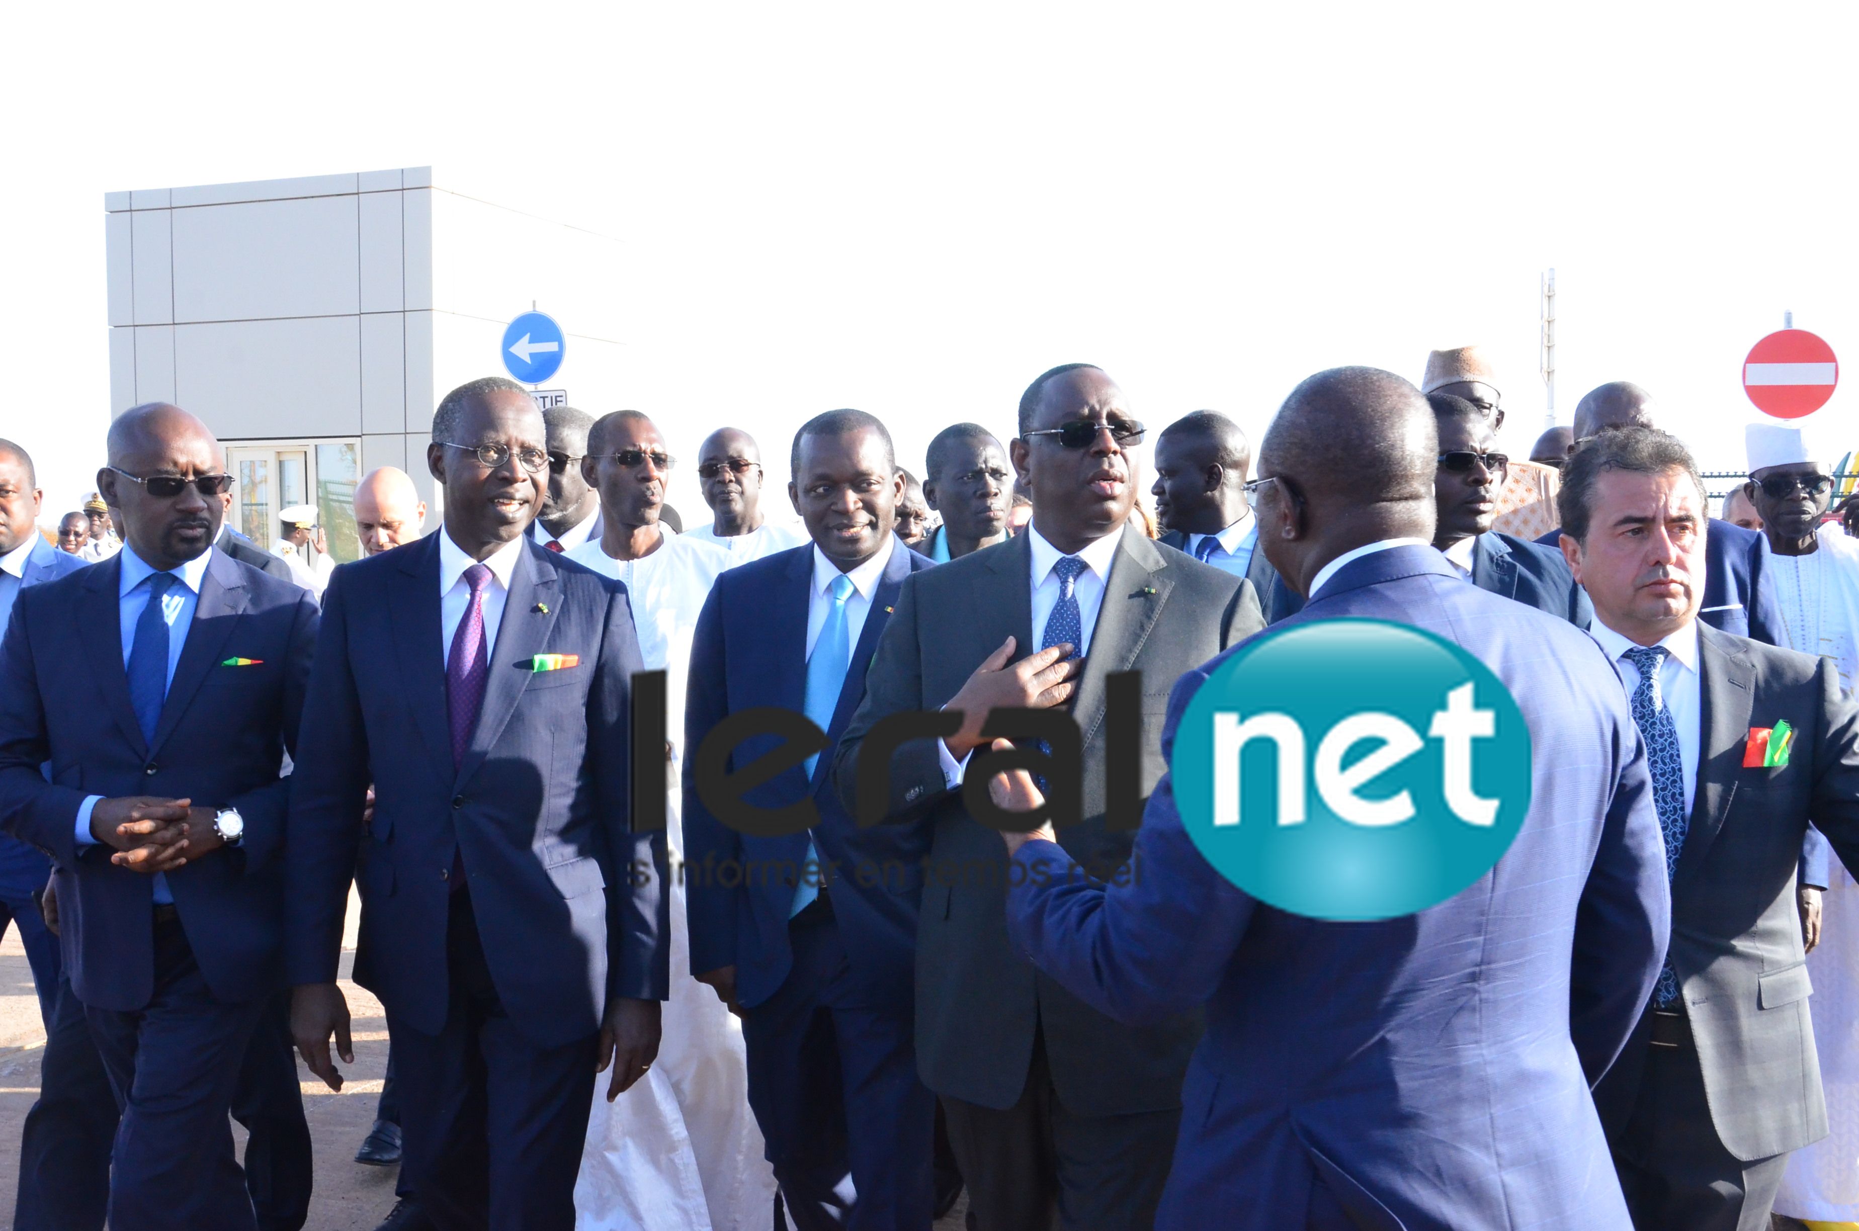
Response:
[[[1850,692],[1859,675],[1859,541],[1822,526],[1807,556],[1777,556],[1764,539],[1762,584],[1781,604],[1788,649],[1826,655]],[[1807,956],[1809,1015],[1831,1132],[1788,1155],[1775,1212],[1859,1222],[1859,885],[1831,859],[1820,946]]]

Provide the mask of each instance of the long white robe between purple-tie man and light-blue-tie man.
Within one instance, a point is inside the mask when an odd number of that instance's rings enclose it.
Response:
[[[619,578],[649,671],[664,669],[667,768],[666,846],[673,868],[684,861],[679,822],[684,690],[697,616],[718,575],[740,560],[664,528],[666,543],[639,560],[613,560],[599,539],[567,556]],[[578,1231],[762,1231],[775,1201],[775,1177],[762,1132],[749,1112],[749,1071],[742,1023],[716,993],[690,978],[684,880],[671,876],[671,999],[664,1008],[658,1060],[632,1090],[606,1101],[608,1073],[595,1082],[587,1144],[574,1185]]]

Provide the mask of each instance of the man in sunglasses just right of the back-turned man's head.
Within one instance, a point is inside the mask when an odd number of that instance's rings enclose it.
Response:
[[[1491,530],[1498,489],[1510,470],[1510,457],[1493,448],[1496,433],[1491,420],[1454,394],[1428,394],[1426,402],[1439,426],[1433,547],[1480,589],[1586,629],[1595,614],[1562,554]]]

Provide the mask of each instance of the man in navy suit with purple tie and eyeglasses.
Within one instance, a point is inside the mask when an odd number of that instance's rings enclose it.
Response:
[[[628,826],[639,643],[625,588],[526,534],[548,452],[521,385],[446,394],[426,465],[442,530],[323,593],[292,779],[292,1030],[340,1090],[353,878],[428,1216],[569,1229],[593,1075],[613,1067],[612,1099],[651,1066],[669,982],[664,827]]]

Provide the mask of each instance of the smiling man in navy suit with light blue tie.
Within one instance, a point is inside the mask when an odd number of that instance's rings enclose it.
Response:
[[[705,805],[699,785],[714,770],[686,755],[692,974],[742,1013],[749,1105],[792,1220],[805,1231],[928,1231],[935,1105],[911,1036],[930,835],[861,829],[829,770],[903,578],[931,562],[892,534],[903,480],[877,418],[809,420],[792,472],[788,496],[812,543],[718,578],[697,621],[684,748],[742,710],[807,714],[827,748],[744,800],[805,803],[814,824],[781,837],[732,829]],[[744,742],[727,764],[747,766],[771,744]]]

